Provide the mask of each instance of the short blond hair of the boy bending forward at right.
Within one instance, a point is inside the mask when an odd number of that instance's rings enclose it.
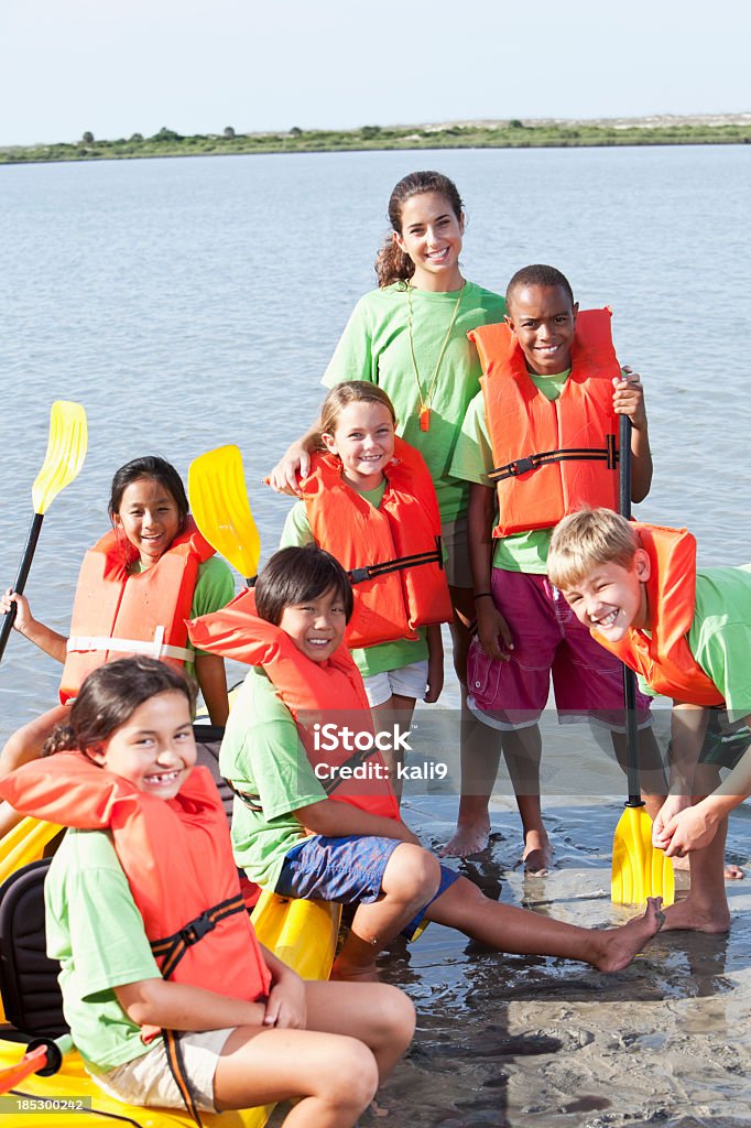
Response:
[[[548,553],[548,579],[566,591],[599,564],[630,569],[639,547],[633,525],[611,509],[581,509],[556,526]]]

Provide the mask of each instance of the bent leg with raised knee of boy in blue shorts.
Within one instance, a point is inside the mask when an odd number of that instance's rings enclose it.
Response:
[[[399,843],[383,871],[382,896],[357,906],[352,928],[334,961],[332,978],[377,980],[376,957],[435,896],[440,882],[436,857],[422,846]]]

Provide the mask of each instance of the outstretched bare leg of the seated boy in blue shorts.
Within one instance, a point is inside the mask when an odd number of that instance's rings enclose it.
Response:
[[[618,971],[660,931],[660,898],[650,898],[644,916],[619,928],[580,928],[540,913],[492,901],[459,878],[427,906],[425,917],[458,928],[502,952],[582,960],[600,971]]]

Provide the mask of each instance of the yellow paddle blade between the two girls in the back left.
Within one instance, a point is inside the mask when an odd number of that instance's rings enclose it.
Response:
[[[239,447],[217,447],[188,467],[188,495],[195,523],[212,548],[246,580],[255,579],[260,538],[245,488]]]

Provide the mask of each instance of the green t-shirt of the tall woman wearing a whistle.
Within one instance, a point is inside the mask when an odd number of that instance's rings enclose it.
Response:
[[[412,291],[413,343],[423,397],[427,396],[451,318],[457,291]],[[400,282],[372,290],[360,299],[332,361],[324,384],[369,380],[390,397],[398,433],[421,452],[431,472],[441,521],[454,521],[467,511],[469,487],[450,472],[461,421],[479,388],[480,362],[469,329],[502,321],[506,303],[500,294],[467,282],[451,336],[430,400],[430,430],[419,430],[419,395],[409,349],[407,290]]]

